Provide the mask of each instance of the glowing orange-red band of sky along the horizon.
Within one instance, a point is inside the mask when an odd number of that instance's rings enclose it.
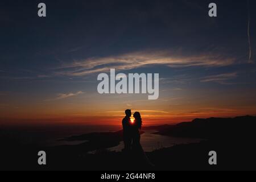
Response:
[[[76,111],[73,113],[53,112],[53,113],[25,113],[25,114],[13,114],[16,117],[1,117],[0,125],[115,125],[121,126],[122,119],[125,117],[124,108],[114,110],[111,109],[103,111]],[[255,115],[256,107],[204,107],[203,109],[191,109],[183,108],[183,110],[154,110],[149,108],[148,110],[142,110],[140,107],[131,108],[132,111],[140,111],[142,115],[143,126],[156,126],[165,124],[176,124],[180,122],[189,122],[195,118],[210,118],[210,117],[237,117],[242,115]],[[131,123],[134,123],[133,115],[130,117]]]

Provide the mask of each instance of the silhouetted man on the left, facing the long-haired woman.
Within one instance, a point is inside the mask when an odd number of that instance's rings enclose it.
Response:
[[[125,143],[125,151],[131,150],[131,126],[130,126],[130,117],[131,117],[131,110],[125,110],[125,118],[123,118],[122,125],[123,125],[123,143]]]

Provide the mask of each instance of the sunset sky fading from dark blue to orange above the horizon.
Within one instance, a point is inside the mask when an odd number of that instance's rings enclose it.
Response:
[[[214,1],[210,18],[210,2],[1,1],[0,123],[116,125],[125,109],[144,125],[255,115],[256,3]],[[159,73],[159,99],[98,94],[110,68]]]

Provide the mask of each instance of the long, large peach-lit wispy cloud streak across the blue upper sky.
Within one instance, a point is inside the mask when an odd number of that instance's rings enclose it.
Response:
[[[134,52],[118,56],[90,58],[73,61],[55,69],[55,75],[85,76],[92,73],[107,72],[110,68],[129,70],[153,65],[167,67],[222,67],[234,64],[236,59],[220,55],[176,56],[167,51]]]

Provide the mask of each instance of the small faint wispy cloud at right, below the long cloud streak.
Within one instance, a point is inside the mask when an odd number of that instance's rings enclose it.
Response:
[[[233,78],[237,77],[237,73],[224,73],[220,75],[212,75],[204,77],[201,82],[218,82],[220,84],[225,84],[226,80],[232,80]]]

